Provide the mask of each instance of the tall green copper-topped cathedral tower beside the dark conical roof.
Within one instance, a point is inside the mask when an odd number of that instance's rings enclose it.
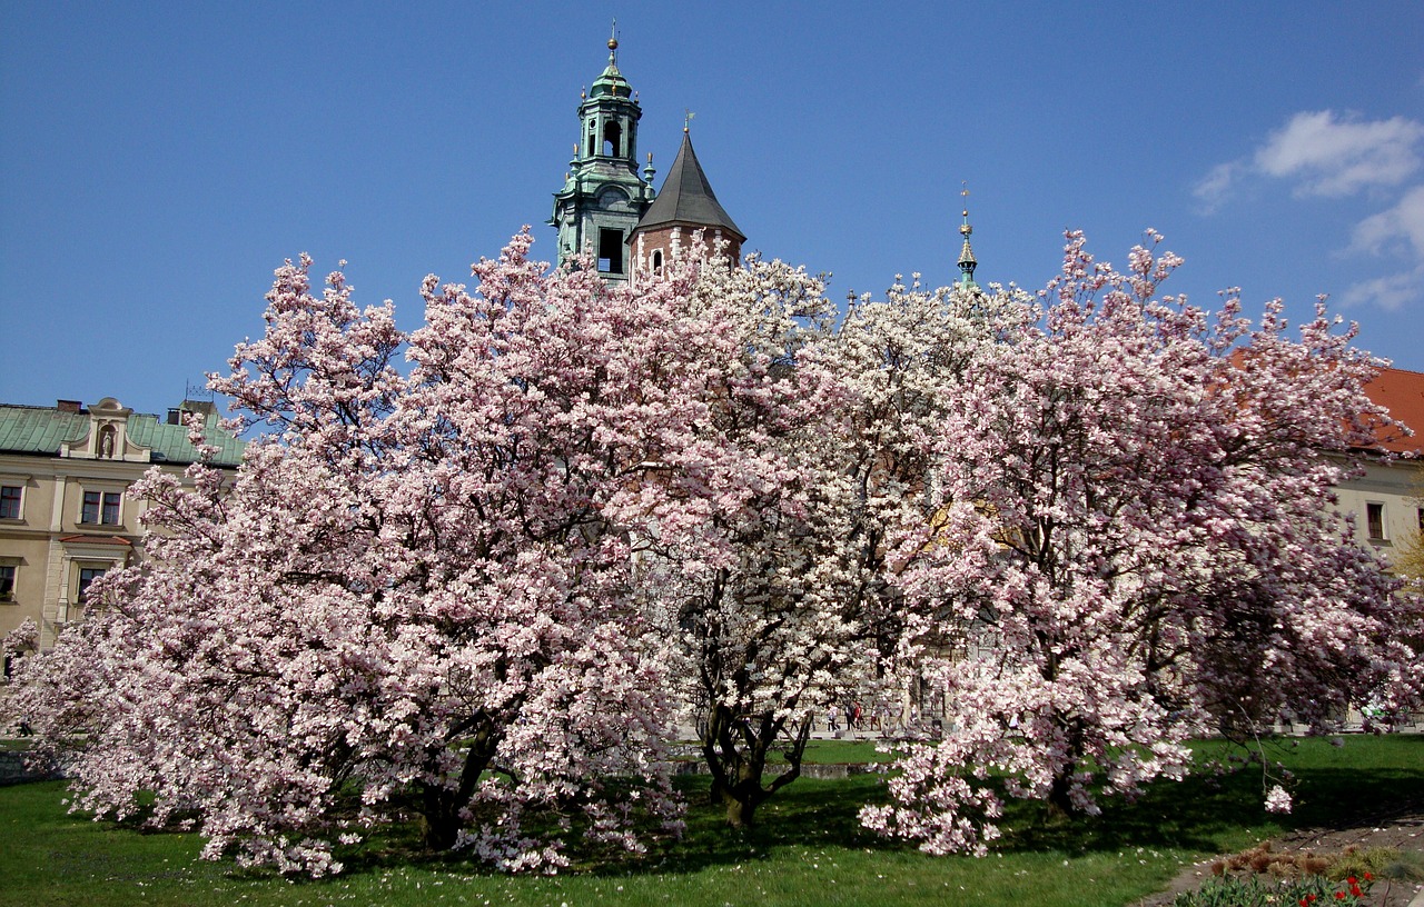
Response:
[[[652,161],[638,175],[642,108],[618,71],[618,38],[608,40],[608,67],[578,105],[580,135],[564,188],[554,193],[558,262],[588,250],[608,281],[628,280],[628,237],[652,205]]]

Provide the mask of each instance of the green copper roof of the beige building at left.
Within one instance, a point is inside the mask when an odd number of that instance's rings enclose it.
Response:
[[[90,431],[88,412],[66,412],[54,407],[14,407],[0,404],[0,452],[58,456],[66,442],[81,441]],[[188,465],[197,462],[198,451],[188,442],[184,425],[169,425],[157,415],[131,412],[128,441],[148,448],[155,463]],[[236,466],[242,462],[241,439],[214,425],[208,444],[218,448],[216,466]]]

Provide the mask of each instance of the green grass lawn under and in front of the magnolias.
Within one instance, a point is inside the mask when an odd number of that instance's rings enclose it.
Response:
[[[823,762],[859,745],[826,742]],[[1203,744],[1205,752],[1219,749]],[[860,758],[853,756],[853,758]],[[1299,776],[1297,810],[1272,817],[1260,775],[1193,778],[1153,786],[1134,805],[1048,823],[1017,805],[998,853],[930,857],[881,842],[856,823],[883,799],[877,776],[800,779],[769,802],[745,833],[721,827],[705,806],[706,779],[688,778],[688,836],[646,860],[558,877],[504,877],[386,846],[347,859],[335,880],[285,880],[197,860],[192,834],[145,834],[64,812],[61,783],[0,789],[0,904],[1126,904],[1172,879],[1183,863],[1239,850],[1299,825],[1424,798],[1424,738],[1347,738],[1344,748],[1300,741],[1279,751]],[[387,844],[390,842],[386,842]]]

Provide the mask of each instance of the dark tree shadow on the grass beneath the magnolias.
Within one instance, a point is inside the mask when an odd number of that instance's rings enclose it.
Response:
[[[1303,755],[1290,751],[1287,742],[1280,753],[1296,773],[1296,809],[1290,815],[1270,816],[1265,812],[1259,765],[1220,776],[1199,769],[1182,782],[1153,783],[1131,803],[1106,798],[1099,816],[1054,820],[1042,803],[1008,799],[1007,815],[1000,823],[1004,839],[994,849],[1002,853],[1057,852],[1074,856],[1136,847],[1215,853],[1233,846],[1225,842],[1239,839],[1242,827],[1262,829],[1267,834],[1306,827],[1353,827],[1387,820],[1391,813],[1407,809],[1424,809],[1424,736],[1396,738],[1383,748],[1358,748],[1356,755],[1366,762],[1358,766],[1353,765],[1349,741],[1344,751],[1314,741],[1302,749]],[[886,854],[916,852],[913,843],[887,840],[860,826],[862,806],[889,799],[881,775],[852,775],[844,780],[802,778],[766,802],[759,810],[758,825],[739,830],[726,827],[725,809],[708,802],[708,783],[705,776],[678,779],[688,800],[688,829],[681,840],[654,836],[645,854],[574,843],[568,850],[572,860],[570,871],[590,876],[684,874],[773,860],[779,852],[792,847]],[[343,877],[396,867],[498,874],[467,854],[431,854],[420,843],[414,823],[384,826],[362,844],[337,849],[337,859],[346,864]],[[232,874],[252,877],[262,873],[232,870]]]

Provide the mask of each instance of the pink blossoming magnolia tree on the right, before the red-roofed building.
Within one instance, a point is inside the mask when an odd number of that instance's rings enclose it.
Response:
[[[1176,264],[1138,247],[1118,273],[1071,235],[1062,277],[947,385],[930,492],[953,532],[891,573],[943,603],[904,651],[950,726],[907,751],[869,826],[983,852],[998,782],[1095,812],[1180,776],[1210,724],[1323,726],[1418,688],[1398,637],[1417,606],[1330,490],[1386,418],[1361,391],[1376,364],[1323,308],[1290,340],[1279,303],[1253,327],[1235,293],[1212,317],[1158,297]]]

